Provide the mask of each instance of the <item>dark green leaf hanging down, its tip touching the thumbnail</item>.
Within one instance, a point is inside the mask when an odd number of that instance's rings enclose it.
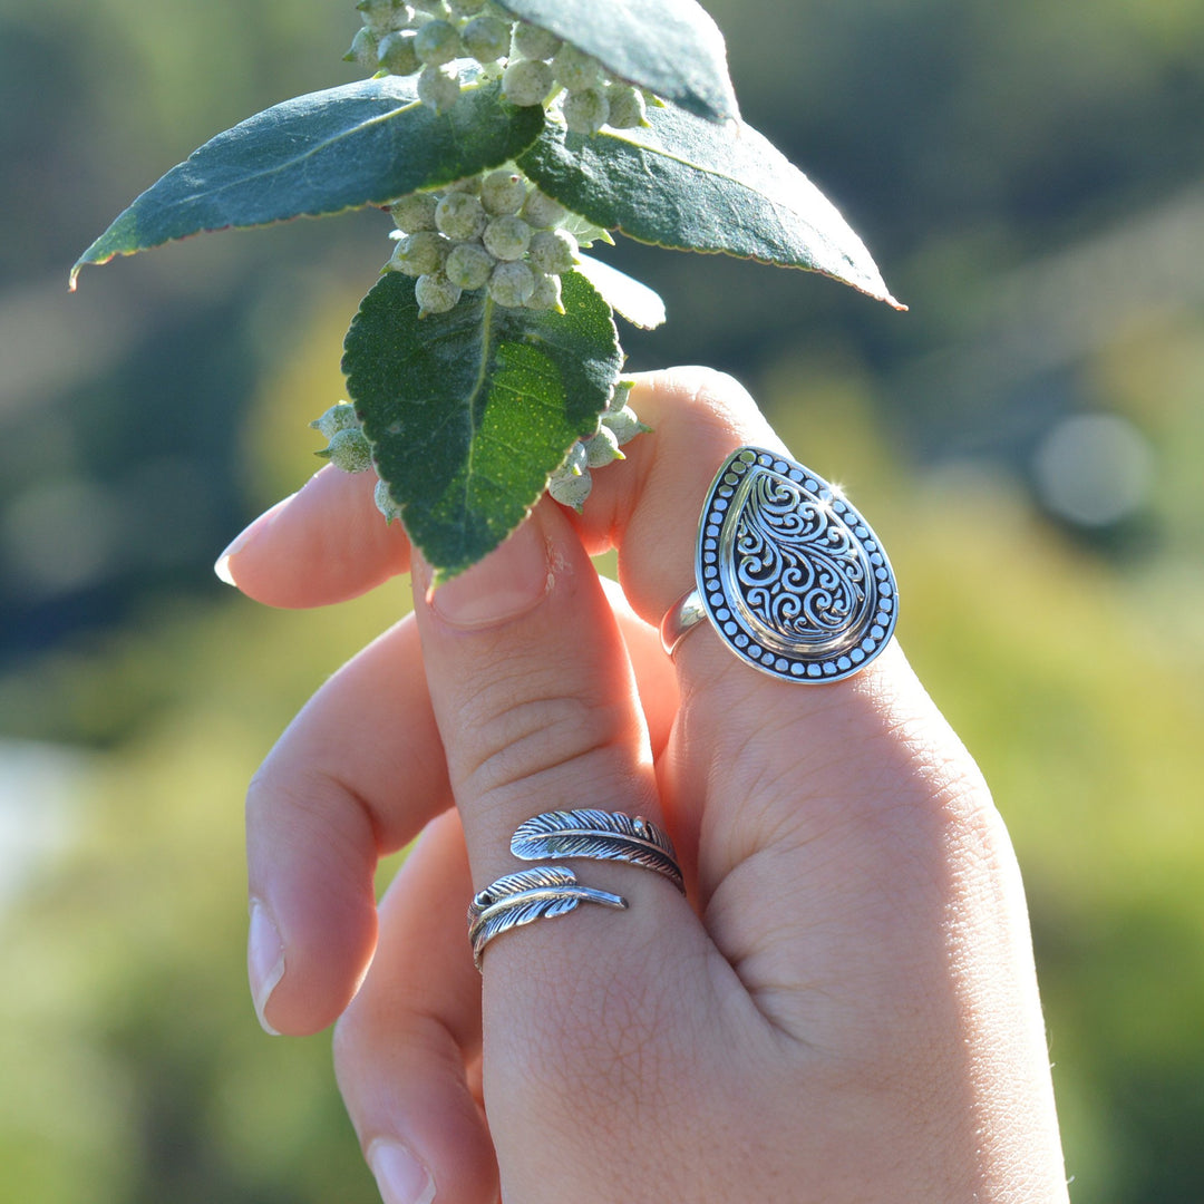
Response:
[[[436,583],[523,521],[619,378],[609,306],[576,272],[562,288],[563,314],[480,289],[419,319],[414,282],[390,272],[352,320],[348,395]]]

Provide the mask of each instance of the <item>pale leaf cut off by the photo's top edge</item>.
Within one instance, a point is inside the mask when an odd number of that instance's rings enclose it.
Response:
[[[695,0],[502,0],[612,75],[722,122],[739,117],[724,35]]]

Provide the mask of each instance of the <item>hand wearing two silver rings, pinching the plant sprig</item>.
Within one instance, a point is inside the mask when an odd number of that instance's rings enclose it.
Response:
[[[722,377],[645,378],[632,403],[656,433],[583,518],[541,503],[430,597],[414,557],[414,614],[256,775],[261,1020],[341,1016],[340,1085],[391,1204],[498,1184],[521,1204],[1064,1200],[1022,887],[973,762],[893,644],[815,687],[706,625],[668,661],[651,625],[692,582],[715,467],[780,444]],[[370,494],[324,470],[229,574],[312,606],[402,572]],[[586,555],[612,542],[621,595]],[[630,909],[497,938],[482,991],[467,901],[521,868],[520,821],[567,807],[667,827],[689,901],[576,862]],[[377,857],[419,832],[378,940]]]

